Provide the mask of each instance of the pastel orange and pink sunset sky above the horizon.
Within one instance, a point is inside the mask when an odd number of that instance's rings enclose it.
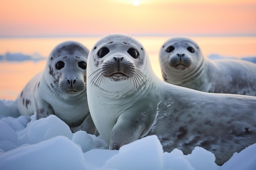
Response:
[[[2,0],[0,37],[256,35],[256,0]]]

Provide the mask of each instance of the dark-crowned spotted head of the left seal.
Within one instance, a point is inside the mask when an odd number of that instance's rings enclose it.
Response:
[[[53,49],[47,60],[45,79],[54,95],[68,97],[86,91],[88,53],[77,42],[63,42]]]

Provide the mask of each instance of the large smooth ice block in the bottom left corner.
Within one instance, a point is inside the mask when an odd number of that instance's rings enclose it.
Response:
[[[0,155],[2,170],[85,170],[81,148],[67,137],[55,137]]]

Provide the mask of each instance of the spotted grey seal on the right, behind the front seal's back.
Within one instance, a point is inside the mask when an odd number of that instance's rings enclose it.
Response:
[[[210,93],[256,96],[256,64],[236,59],[210,60],[189,38],[171,38],[159,54],[165,82]]]

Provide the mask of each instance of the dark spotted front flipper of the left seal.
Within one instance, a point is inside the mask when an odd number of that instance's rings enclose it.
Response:
[[[52,106],[43,99],[38,99],[36,102],[36,119],[45,118],[54,114]]]

